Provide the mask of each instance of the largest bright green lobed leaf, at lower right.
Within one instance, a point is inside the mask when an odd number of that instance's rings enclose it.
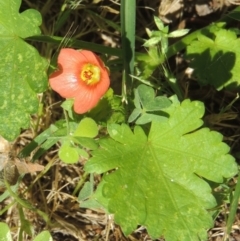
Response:
[[[169,114],[166,122],[152,123],[148,136],[139,126],[133,132],[125,124],[109,126],[110,137],[85,170],[111,170],[102,195],[125,234],[144,225],[153,238],[206,240],[213,223],[206,210],[216,201],[204,179],[222,182],[237,173],[237,165],[221,134],[199,129],[201,102],[185,100]]]

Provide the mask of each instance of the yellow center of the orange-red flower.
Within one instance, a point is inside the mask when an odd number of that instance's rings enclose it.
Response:
[[[94,85],[100,81],[100,68],[93,64],[84,64],[80,77],[87,85]]]

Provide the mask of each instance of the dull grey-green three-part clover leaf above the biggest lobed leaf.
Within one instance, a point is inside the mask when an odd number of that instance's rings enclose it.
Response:
[[[137,119],[136,124],[142,125],[153,120],[164,121],[166,116],[157,115],[157,111],[170,106],[171,101],[165,96],[155,97],[154,90],[146,85],[139,85],[134,91],[135,109],[128,118],[128,122]]]

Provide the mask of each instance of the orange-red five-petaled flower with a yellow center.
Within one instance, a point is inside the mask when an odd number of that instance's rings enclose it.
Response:
[[[58,70],[49,78],[50,86],[64,98],[74,99],[74,111],[83,114],[95,107],[110,85],[103,61],[88,50],[63,48]]]

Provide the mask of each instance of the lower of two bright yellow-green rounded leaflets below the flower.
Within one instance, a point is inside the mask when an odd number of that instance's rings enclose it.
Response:
[[[68,142],[63,143],[58,151],[58,155],[67,164],[76,163],[79,160],[78,150]]]

